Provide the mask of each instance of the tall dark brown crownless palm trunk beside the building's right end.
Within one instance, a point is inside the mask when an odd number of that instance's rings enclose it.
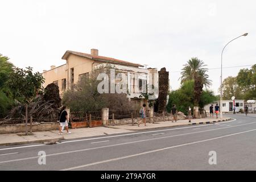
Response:
[[[161,68],[159,73],[159,96],[158,96],[158,113],[163,113],[166,111],[167,105],[167,94],[169,89],[169,72],[166,71],[166,68]]]

